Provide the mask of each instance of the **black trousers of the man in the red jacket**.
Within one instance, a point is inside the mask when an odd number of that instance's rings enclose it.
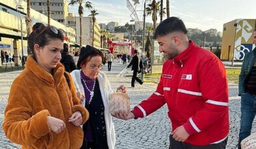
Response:
[[[217,144],[209,144],[209,145],[192,145],[188,143],[183,143],[180,141],[175,141],[172,135],[170,135],[170,146],[169,149],[225,149],[227,145],[227,139]]]

